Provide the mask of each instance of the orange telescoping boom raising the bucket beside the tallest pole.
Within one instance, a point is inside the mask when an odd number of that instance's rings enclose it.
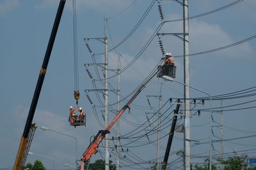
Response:
[[[118,118],[121,117],[122,113],[124,113],[124,111],[128,108],[130,110],[129,105],[132,103],[132,101],[134,101],[134,99],[140,94],[140,92],[144,89],[144,87],[146,87],[147,83],[152,80],[152,78],[154,78],[154,76],[156,76],[157,73],[159,73],[159,71],[161,71],[161,69],[158,69],[156,71],[156,73],[154,73],[150,78],[148,78],[147,81],[145,81],[145,83],[143,83],[140,88],[136,91],[136,93],[131,97],[131,99],[125,104],[125,106],[117,113],[116,117],[113,118],[112,122],[108,125],[108,127],[106,127],[106,129],[101,130],[98,132],[98,134],[95,136],[95,138],[93,139],[92,143],[90,143],[90,145],[88,146],[87,150],[84,152],[83,154],[83,158],[81,159],[81,165],[80,165],[80,169],[83,170],[84,168],[84,162],[87,162],[90,157],[92,157],[92,154],[97,153],[97,148],[100,144],[100,142],[102,141],[102,139],[105,138],[106,134],[109,133],[109,130],[111,129],[111,127],[113,127],[113,125],[115,124],[115,122],[118,120]]]

